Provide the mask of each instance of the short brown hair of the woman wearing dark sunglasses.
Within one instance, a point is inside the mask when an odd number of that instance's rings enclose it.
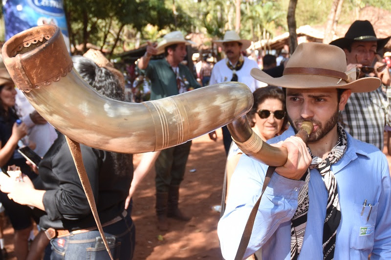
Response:
[[[253,97],[254,97],[254,105],[251,108],[251,110],[247,113],[247,118],[250,122],[251,127],[254,127],[254,122],[252,119],[255,117],[255,113],[257,113],[258,106],[267,99],[280,100],[282,102],[282,109],[286,111],[285,94],[282,91],[282,89],[278,87],[267,85],[266,87],[258,88],[253,92]],[[282,128],[286,125],[287,121],[288,121],[288,117],[285,116],[282,124]]]

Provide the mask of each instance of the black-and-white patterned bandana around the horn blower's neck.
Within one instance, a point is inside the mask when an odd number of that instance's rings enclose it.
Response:
[[[344,155],[348,138],[344,128],[340,123],[337,123],[338,141],[337,144],[331,149],[325,160],[322,158],[313,156],[309,169],[317,168],[323,177],[326,185],[328,198],[326,206],[326,219],[323,226],[323,259],[332,260],[334,258],[335,240],[337,228],[341,220],[341,210],[338,199],[337,180],[334,174],[330,170],[331,164],[339,161]],[[309,150],[309,148],[308,148]],[[311,153],[311,151],[309,150]],[[309,169],[303,176],[305,178],[305,184],[299,192],[298,207],[295,215],[292,218],[291,223],[291,260],[296,260],[302,249],[304,240],[305,225],[307,222],[308,212],[308,182],[309,182]],[[302,178],[302,180],[303,180]]]

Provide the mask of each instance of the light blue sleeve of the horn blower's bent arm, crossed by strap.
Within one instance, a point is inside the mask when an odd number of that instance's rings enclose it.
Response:
[[[224,259],[235,258],[244,226],[261,195],[266,168],[246,155],[240,157],[231,179],[227,206],[217,226]],[[292,219],[303,186],[302,180],[290,180],[274,173],[261,199],[244,257],[260,249],[282,223]]]

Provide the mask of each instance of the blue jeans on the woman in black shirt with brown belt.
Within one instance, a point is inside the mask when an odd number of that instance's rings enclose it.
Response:
[[[135,244],[135,227],[128,215],[103,228],[114,259],[130,260]],[[98,230],[50,240],[50,260],[108,260],[109,254]]]

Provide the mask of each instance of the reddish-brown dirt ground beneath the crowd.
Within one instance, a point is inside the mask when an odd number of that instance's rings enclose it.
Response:
[[[133,196],[132,218],[136,226],[136,247],[133,260],[219,260],[221,258],[217,222],[219,213],[212,209],[219,205],[224,175],[225,152],[221,131],[213,142],[208,135],[193,140],[185,179],[180,188],[180,208],[192,219],[179,222],[169,219],[170,229],[156,228],[154,170],[139,185]],[[387,154],[387,148],[384,149]],[[391,157],[387,156],[389,165]],[[140,156],[134,157],[135,165]],[[190,170],[195,169],[195,172]],[[13,229],[4,230],[6,249],[11,260]]]

